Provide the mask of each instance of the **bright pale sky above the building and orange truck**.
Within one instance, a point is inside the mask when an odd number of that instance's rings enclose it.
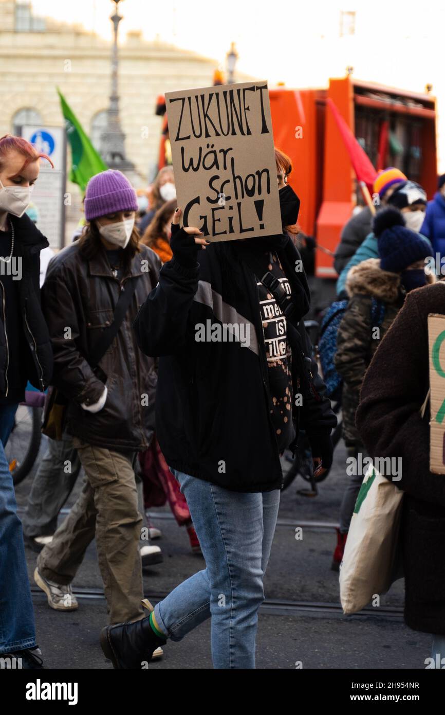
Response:
[[[35,14],[81,23],[111,38],[111,0],[32,4]],[[354,35],[339,36],[341,11],[356,11]],[[127,31],[141,29],[146,39],[159,36],[223,68],[234,41],[239,70],[268,79],[270,87],[326,87],[348,65],[358,79],[414,92],[432,84],[440,115],[439,169],[445,171],[445,5],[437,0],[122,0],[119,14],[122,41]]]

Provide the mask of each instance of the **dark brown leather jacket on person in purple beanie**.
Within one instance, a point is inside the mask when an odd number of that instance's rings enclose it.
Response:
[[[100,248],[86,260],[78,241],[67,246],[51,260],[42,288],[54,348],[52,382],[69,398],[66,430],[91,445],[112,450],[144,450],[154,432],[154,360],[139,350],[131,326],[158,282],[161,261],[148,247],[140,248],[131,271],[122,277],[122,283],[131,276],[136,279],[131,305],[94,370],[89,365],[91,343],[98,331],[113,321],[121,292],[105,251]],[[84,410],[81,403],[96,403],[104,392],[104,383],[108,389],[104,408],[96,413]]]

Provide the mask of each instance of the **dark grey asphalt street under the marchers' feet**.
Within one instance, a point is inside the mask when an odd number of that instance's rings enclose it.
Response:
[[[41,450],[44,449],[42,445]],[[398,581],[381,598],[379,608],[344,616],[339,606],[338,573],[331,571],[341,497],[348,477],[346,453],[337,447],[334,467],[315,498],[296,493],[306,484],[301,478],[281,494],[268,571],[266,602],[259,614],[256,666],[259,669],[424,669],[431,636],[411,631],[402,618],[404,583]],[[16,489],[20,508],[26,506],[33,475]],[[69,503],[81,487],[81,473]],[[64,518],[64,514],[61,514]],[[152,603],[204,568],[204,559],[191,553],[184,528],[179,528],[169,508],[151,510],[161,528],[163,563],[144,571],[144,591]],[[311,526],[319,523],[332,526]],[[295,538],[302,526],[301,539]],[[96,559],[89,547],[73,583],[79,589],[79,609],[53,611],[34,584],[36,553],[26,548],[36,613],[39,646],[47,668],[111,669],[99,646],[99,631],[106,625],[106,603]],[[86,593],[85,593],[86,591]],[[210,669],[210,623],[203,623],[181,642],[164,646],[164,656],[152,669]]]

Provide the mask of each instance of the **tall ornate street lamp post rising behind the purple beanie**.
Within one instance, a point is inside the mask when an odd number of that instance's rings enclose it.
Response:
[[[108,164],[111,169],[131,171],[134,169],[134,164],[125,156],[125,134],[121,129],[119,119],[117,34],[119,22],[122,19],[122,16],[119,15],[118,12],[118,5],[121,0],[113,1],[116,3],[116,11],[110,18],[114,28],[114,41],[111,49],[111,95],[106,117],[106,127],[100,139],[100,153],[104,162]]]

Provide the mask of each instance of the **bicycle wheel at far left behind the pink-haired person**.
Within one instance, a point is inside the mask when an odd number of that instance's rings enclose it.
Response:
[[[19,405],[14,427],[5,448],[14,484],[19,484],[31,471],[41,442],[41,408]]]

